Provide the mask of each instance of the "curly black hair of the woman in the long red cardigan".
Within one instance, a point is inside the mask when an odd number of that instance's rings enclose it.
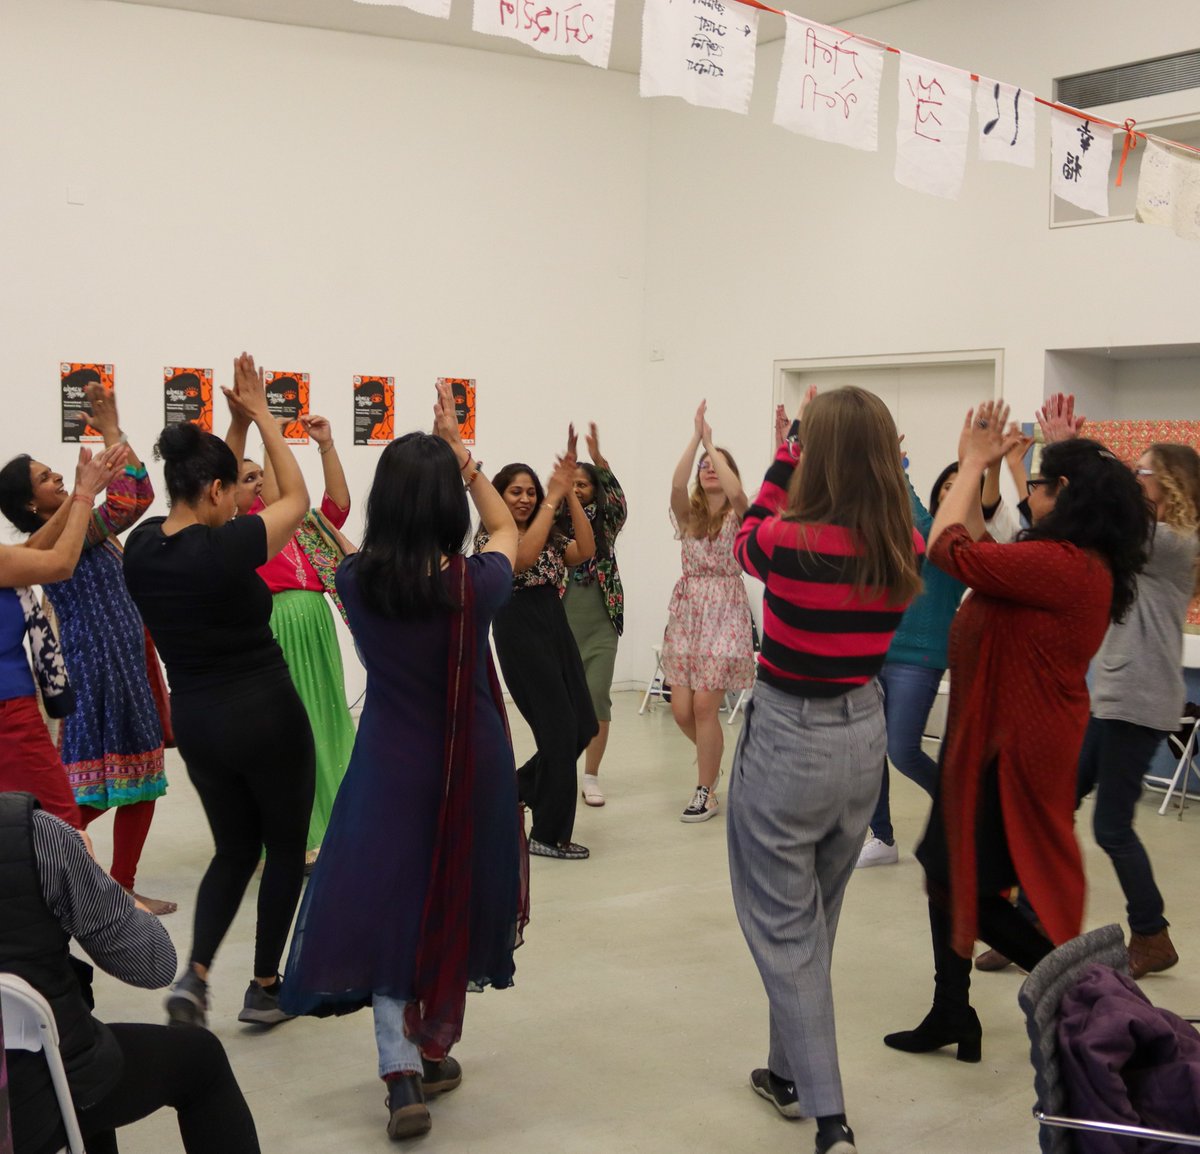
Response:
[[[1112,572],[1109,618],[1124,620],[1138,596],[1153,527],[1141,486],[1104,445],[1082,437],[1046,445],[1040,471],[1054,487],[1054,509],[1020,540],[1069,541],[1099,553]]]

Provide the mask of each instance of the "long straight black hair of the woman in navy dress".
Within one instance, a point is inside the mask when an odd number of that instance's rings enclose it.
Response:
[[[461,553],[470,530],[467,491],[440,437],[407,433],[379,457],[367,497],[358,575],[362,600],[383,617],[456,609],[442,559]]]

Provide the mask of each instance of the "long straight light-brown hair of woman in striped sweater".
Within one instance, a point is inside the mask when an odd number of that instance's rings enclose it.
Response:
[[[854,593],[905,605],[920,593],[912,505],[896,427],[874,392],[846,385],[818,393],[800,419],[803,456],[784,517],[848,529],[862,553]]]

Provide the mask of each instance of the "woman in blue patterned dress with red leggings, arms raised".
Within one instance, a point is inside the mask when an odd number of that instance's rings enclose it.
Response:
[[[104,445],[128,444],[116,397],[88,386],[89,423]],[[35,533],[70,499],[62,477],[22,455],[0,470],[0,510],[18,529]],[[125,588],[118,534],[154,501],[145,465],[128,450],[125,471],[108,487],[88,525],[83,554],[66,581],[43,588],[59,621],[62,656],[76,691],[76,710],[59,726],[59,752],[84,827],[115,810],[113,877],[131,894],[155,801],[167,791],[163,733],[150,677],[161,677],[142,618]],[[151,671],[151,672],[148,672]],[[134,895],[154,914],[175,903]]]

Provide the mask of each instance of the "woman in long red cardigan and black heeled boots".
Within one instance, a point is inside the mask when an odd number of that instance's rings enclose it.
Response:
[[[929,558],[972,589],[950,630],[950,703],[941,782],[917,857],[934,940],[934,1006],[894,1050],[958,1044],[978,1062],[971,1008],[976,938],[1032,969],[1080,932],[1075,763],[1087,726],[1085,677],[1110,621],[1128,613],[1146,561],[1148,509],[1108,449],[1048,445],[1028,481],[1033,528],[1010,545],[984,533],[979,481],[998,462],[1008,407],[967,413],[959,481],[929,533]],[[1013,907],[1019,884],[1045,934]]]

